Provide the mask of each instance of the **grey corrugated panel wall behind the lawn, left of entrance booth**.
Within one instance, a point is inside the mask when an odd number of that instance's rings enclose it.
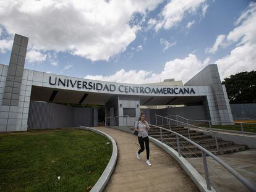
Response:
[[[28,112],[28,130],[79,127],[80,125],[92,127],[95,110],[97,109],[31,101]],[[95,114],[98,113],[95,112]]]

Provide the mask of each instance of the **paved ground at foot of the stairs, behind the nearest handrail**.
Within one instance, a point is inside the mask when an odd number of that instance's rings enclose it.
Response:
[[[256,149],[224,154],[218,157],[256,186]],[[187,161],[204,177],[202,158],[187,158]],[[210,165],[210,179],[216,186],[215,188],[218,188],[218,191],[249,191],[237,178],[211,157],[207,157],[207,164]]]

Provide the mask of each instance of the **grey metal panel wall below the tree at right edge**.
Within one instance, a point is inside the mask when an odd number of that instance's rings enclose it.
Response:
[[[255,120],[256,103],[230,104],[234,120]]]

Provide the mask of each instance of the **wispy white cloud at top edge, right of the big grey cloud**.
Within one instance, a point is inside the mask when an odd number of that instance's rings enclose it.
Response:
[[[169,29],[181,22],[184,17],[188,14],[195,14],[200,7],[205,7],[206,0],[173,0],[168,2],[164,6],[160,19],[151,19],[149,27],[155,27],[155,30],[158,31],[161,28]],[[205,14],[206,8],[202,8],[203,14]]]

